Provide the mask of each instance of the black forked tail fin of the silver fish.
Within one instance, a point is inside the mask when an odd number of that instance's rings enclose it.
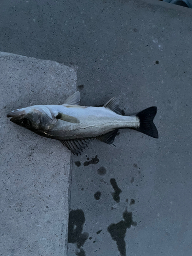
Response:
[[[148,108],[146,110],[143,110],[136,114],[136,116],[140,120],[140,126],[139,128],[136,128],[135,130],[144,133],[148,136],[151,136],[153,138],[158,138],[158,131],[157,128],[153,122],[153,119],[157,113],[157,107],[151,106],[151,108]]]

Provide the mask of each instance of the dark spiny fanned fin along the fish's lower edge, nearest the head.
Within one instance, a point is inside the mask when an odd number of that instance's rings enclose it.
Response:
[[[91,139],[76,139],[76,140],[60,140],[60,142],[67,146],[68,150],[70,150],[74,155],[80,155],[83,148],[88,146],[87,144]]]

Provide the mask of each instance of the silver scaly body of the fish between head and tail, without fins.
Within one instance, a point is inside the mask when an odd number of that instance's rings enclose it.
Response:
[[[68,140],[78,138],[96,138],[116,129],[139,127],[136,116],[121,116],[104,107],[81,108],[80,106],[47,106],[50,110],[65,113],[79,120],[79,123],[70,123],[58,119],[55,125],[46,131],[46,135],[53,139]]]

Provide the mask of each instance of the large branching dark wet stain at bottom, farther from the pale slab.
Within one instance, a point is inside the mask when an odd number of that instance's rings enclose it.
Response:
[[[125,247],[125,234],[126,229],[132,226],[137,226],[137,222],[133,221],[132,212],[128,212],[127,209],[123,212],[124,221],[118,223],[113,223],[108,227],[108,232],[111,234],[111,237],[117,243],[117,248],[121,256],[126,256],[126,247]]]

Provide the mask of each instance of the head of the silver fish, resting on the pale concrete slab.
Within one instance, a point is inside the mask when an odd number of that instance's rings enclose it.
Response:
[[[7,117],[11,117],[10,121],[13,123],[33,132],[47,131],[56,122],[50,110],[44,105],[13,110],[7,114]]]

